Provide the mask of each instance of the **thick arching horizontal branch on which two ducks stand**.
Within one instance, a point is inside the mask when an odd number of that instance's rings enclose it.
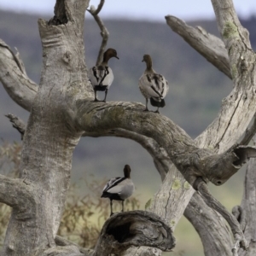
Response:
[[[193,184],[196,177],[212,183],[224,183],[243,164],[246,154],[255,157],[255,148],[233,147],[223,154],[213,154],[209,149],[197,148],[195,142],[172,120],[154,113],[144,113],[141,104],[126,102],[80,102],[78,120],[80,129],[86,132],[125,129],[157,141],[186,180]],[[132,121],[131,121],[132,120]],[[154,132],[152,132],[154,130]],[[235,154],[234,154],[235,153]],[[223,168],[222,168],[223,166]],[[218,171],[221,169],[221,175]]]

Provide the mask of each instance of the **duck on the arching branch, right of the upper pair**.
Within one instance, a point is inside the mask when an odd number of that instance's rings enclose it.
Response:
[[[146,98],[144,111],[148,111],[149,98],[151,105],[157,107],[155,113],[159,113],[159,108],[166,106],[164,98],[169,90],[168,82],[161,74],[154,71],[150,55],[143,55],[143,61],[146,62],[147,68],[139,79],[139,89]]]

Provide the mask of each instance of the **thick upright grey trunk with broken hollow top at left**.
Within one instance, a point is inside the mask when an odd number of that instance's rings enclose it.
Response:
[[[32,203],[23,206],[25,211],[20,217],[20,209],[14,207],[3,255],[34,255],[35,251],[39,253],[55,246],[70,182],[73,149],[83,133],[75,125],[74,102],[90,93],[84,83],[82,30],[89,1],[78,3],[78,10],[73,3],[68,8],[71,12],[75,10],[75,15],[67,13],[77,22],[49,26],[44,20],[38,21],[44,65],[27,123],[20,164],[20,184],[27,185]]]

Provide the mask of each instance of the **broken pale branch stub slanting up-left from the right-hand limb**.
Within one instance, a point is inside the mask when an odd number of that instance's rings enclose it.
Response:
[[[221,39],[205,31],[201,26],[196,28],[187,25],[172,15],[166,16],[167,24],[173,32],[177,32],[192,48],[203,55],[218,70],[226,74],[230,79],[230,61],[227,50]]]

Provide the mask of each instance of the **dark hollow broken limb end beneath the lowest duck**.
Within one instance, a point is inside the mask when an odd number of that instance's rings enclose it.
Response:
[[[175,238],[172,229],[152,212],[119,212],[104,224],[95,255],[119,255],[131,246],[170,251],[175,246]]]

